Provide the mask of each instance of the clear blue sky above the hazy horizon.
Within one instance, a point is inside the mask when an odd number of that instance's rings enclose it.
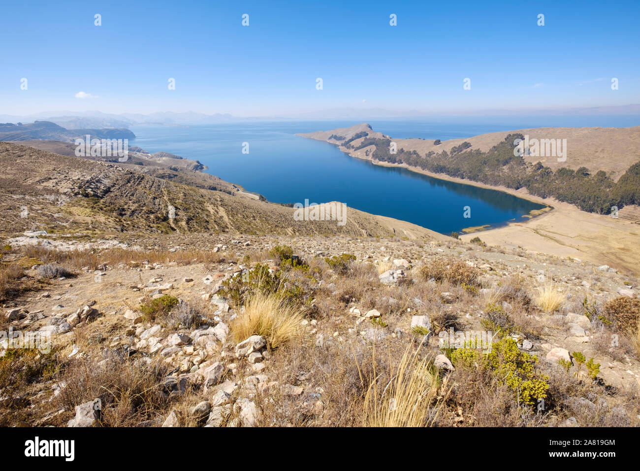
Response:
[[[335,107],[465,112],[640,103],[637,0],[29,1],[0,8],[0,114],[274,116]],[[94,26],[95,13],[102,26]],[[243,13],[250,26],[242,26]],[[611,78],[619,90],[611,90]]]

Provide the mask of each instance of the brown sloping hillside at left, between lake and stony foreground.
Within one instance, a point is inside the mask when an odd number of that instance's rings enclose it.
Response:
[[[335,220],[296,221],[292,208],[259,201],[231,183],[197,172],[152,169],[147,173],[147,167],[138,165],[61,156],[11,143],[0,143],[0,164],[6,169],[0,176],[0,213],[14,221],[5,232],[388,236],[395,229],[410,238],[443,237],[351,208],[344,226]],[[19,217],[23,206],[28,209],[26,218]],[[175,209],[175,217],[169,217],[169,206]]]

